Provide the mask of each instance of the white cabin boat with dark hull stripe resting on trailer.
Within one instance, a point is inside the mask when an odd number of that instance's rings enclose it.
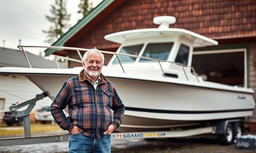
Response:
[[[156,17],[154,23],[160,26],[105,36],[121,44],[116,53],[102,51],[114,54],[103,66],[102,74],[115,85],[125,105],[118,131],[164,130],[252,115],[255,104],[251,88],[204,81],[191,67],[193,48],[218,45],[217,41],[185,29],[169,28],[175,23],[174,17]],[[62,84],[82,69],[3,67],[0,74],[27,77],[54,99]]]

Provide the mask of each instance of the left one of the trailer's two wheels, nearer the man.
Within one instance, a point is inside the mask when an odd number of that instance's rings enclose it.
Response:
[[[227,128],[222,135],[219,135],[220,144],[230,145],[234,140],[234,128],[232,124],[228,123]]]

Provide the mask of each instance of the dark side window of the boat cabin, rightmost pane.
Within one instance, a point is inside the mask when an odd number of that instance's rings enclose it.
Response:
[[[187,45],[181,44],[175,62],[188,65],[188,55],[189,47]]]

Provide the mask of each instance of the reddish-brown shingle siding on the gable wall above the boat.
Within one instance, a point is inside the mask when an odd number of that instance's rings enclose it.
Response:
[[[104,40],[109,33],[156,28],[156,16],[174,16],[174,28],[212,39],[256,36],[255,0],[134,0],[125,1],[74,44],[76,47],[116,48]]]

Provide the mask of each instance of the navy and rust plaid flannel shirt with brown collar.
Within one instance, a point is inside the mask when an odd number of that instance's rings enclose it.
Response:
[[[70,132],[76,125],[83,129],[84,135],[100,139],[110,124],[115,130],[120,126],[124,104],[115,86],[101,73],[100,78],[96,90],[84,70],[63,84],[51,105],[52,116],[60,128]],[[67,105],[69,120],[62,111]]]

